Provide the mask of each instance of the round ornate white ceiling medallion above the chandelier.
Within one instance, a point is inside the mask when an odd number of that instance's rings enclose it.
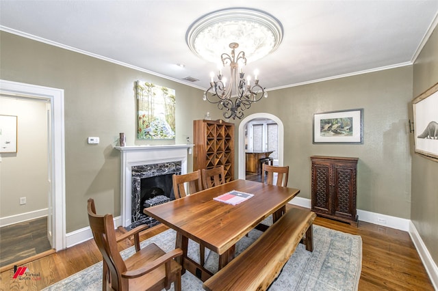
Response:
[[[236,42],[250,63],[268,55],[283,39],[283,26],[274,16],[250,8],[211,12],[190,25],[185,41],[199,57],[218,63],[218,55]]]

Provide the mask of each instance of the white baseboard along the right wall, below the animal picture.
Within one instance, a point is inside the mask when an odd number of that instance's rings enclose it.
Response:
[[[424,242],[412,221],[409,221],[409,235],[415,245],[415,249],[417,249],[420,258],[422,259],[424,268],[426,268],[426,272],[429,275],[430,281],[432,281],[433,287],[435,290],[438,290],[438,266],[433,261],[432,256],[426,245],[424,245]]]

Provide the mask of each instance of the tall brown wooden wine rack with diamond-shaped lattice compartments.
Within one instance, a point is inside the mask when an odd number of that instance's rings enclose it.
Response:
[[[234,124],[222,120],[194,120],[193,139],[193,170],[223,165],[225,181],[234,180]]]

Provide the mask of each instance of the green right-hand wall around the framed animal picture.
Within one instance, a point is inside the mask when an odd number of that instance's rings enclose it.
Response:
[[[438,29],[413,66],[413,98],[438,82]],[[411,105],[409,105],[410,110]],[[438,121],[438,120],[437,120]],[[411,141],[413,145],[413,139]],[[413,148],[413,146],[412,146]],[[438,163],[412,151],[411,220],[435,264],[438,264]]]

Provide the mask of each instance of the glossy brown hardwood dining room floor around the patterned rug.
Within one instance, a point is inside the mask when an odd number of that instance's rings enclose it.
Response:
[[[365,222],[359,222],[356,227],[321,217],[315,219],[315,224],[361,236],[363,257],[359,290],[434,290],[407,232]],[[149,236],[166,229],[164,225],[157,225]],[[146,238],[141,236],[142,240]],[[118,245],[120,251],[129,246],[129,241]],[[34,280],[12,279],[14,270],[1,273],[0,290],[41,290],[100,260],[102,257],[94,240],[88,240],[25,264],[28,272],[38,273]]]

